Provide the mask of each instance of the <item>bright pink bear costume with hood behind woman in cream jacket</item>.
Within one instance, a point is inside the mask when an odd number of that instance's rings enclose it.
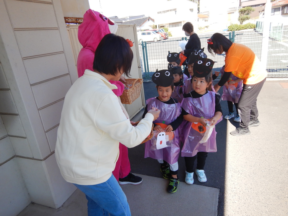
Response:
[[[118,26],[103,14],[91,9],[86,11],[83,23],[78,28],[78,40],[83,46],[77,58],[78,77],[81,77],[86,69],[93,71],[94,55],[98,44],[105,35],[116,33],[117,28]],[[112,90],[114,94],[120,96],[123,93],[124,85],[119,81],[110,82],[118,87]],[[130,171],[128,149],[120,143],[119,158],[112,173],[118,181],[119,178],[126,177]]]

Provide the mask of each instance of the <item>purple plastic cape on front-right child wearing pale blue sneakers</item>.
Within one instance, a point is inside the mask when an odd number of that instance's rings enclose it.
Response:
[[[206,119],[211,119],[215,115],[215,92],[208,91],[200,98],[184,98],[181,107],[189,114],[201,118],[201,114]],[[198,109],[197,109],[197,108]],[[199,110],[199,111],[198,111]],[[217,121],[220,122],[222,117]],[[183,120],[180,127],[182,128],[181,141],[184,143],[181,156],[193,157],[199,151],[202,152],[216,152],[216,134],[215,127],[211,133],[210,138],[206,143],[199,143],[204,136],[204,133],[200,133],[192,128],[192,122]],[[196,123],[197,124],[197,123]]]

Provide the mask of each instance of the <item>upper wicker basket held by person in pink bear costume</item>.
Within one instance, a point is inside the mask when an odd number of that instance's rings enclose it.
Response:
[[[143,83],[143,79],[125,79],[125,85],[132,85],[129,89],[124,89],[123,94],[120,96],[121,103],[123,104],[131,104],[137,98],[139,98],[141,93],[141,87]]]

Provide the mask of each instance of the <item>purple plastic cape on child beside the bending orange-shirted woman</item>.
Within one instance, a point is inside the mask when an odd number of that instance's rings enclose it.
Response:
[[[224,74],[224,67],[222,67],[220,69],[220,73],[221,73],[221,77]],[[230,79],[231,80],[236,80],[238,79],[238,77],[234,76],[232,73],[230,75]],[[242,83],[243,81],[238,82],[238,85],[236,88],[234,88],[233,86],[223,86],[223,94],[221,96],[222,101],[232,101],[233,103],[238,103],[239,102],[239,98],[241,96],[241,92],[242,92]]]

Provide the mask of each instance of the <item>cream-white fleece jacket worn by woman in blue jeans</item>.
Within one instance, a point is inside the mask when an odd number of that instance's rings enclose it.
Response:
[[[137,127],[124,115],[116,86],[85,70],[67,92],[58,128],[55,156],[63,178],[79,185],[107,181],[119,156],[119,142],[139,145],[150,133],[151,113]]]

